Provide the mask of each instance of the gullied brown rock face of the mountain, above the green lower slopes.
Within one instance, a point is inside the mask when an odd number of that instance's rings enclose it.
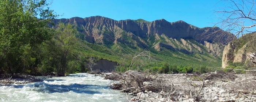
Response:
[[[102,16],[53,19],[54,24],[59,22],[74,24],[80,33],[78,38],[89,43],[106,46],[122,43],[132,47],[154,48],[157,51],[167,48],[185,54],[193,52],[202,54],[203,46],[206,45],[207,48],[211,48],[211,50],[207,50],[208,52],[219,55],[216,52],[219,49],[216,48],[218,46],[209,43],[225,44],[228,42],[227,38],[231,36],[225,35],[214,39],[223,32],[218,27],[198,28],[181,20],[172,23],[165,19],[151,22],[143,19],[117,21]]]

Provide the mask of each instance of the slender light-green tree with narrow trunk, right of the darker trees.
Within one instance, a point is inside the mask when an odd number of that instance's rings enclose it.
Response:
[[[59,23],[56,31],[56,39],[59,41],[58,44],[61,47],[61,64],[60,68],[57,69],[57,73],[64,76],[67,67],[68,55],[71,54],[72,50],[75,48],[76,29],[70,23]]]

